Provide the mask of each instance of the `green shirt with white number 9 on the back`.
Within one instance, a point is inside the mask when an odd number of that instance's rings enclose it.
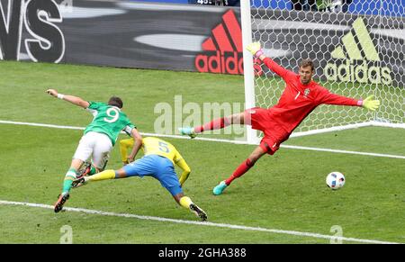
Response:
[[[87,111],[93,114],[93,121],[85,128],[85,134],[89,131],[106,134],[112,141],[112,146],[118,139],[121,131],[130,135],[130,131],[135,128],[127,115],[121,109],[98,102],[89,102]]]

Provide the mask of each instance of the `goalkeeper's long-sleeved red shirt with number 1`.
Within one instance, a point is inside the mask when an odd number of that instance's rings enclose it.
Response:
[[[263,60],[285,81],[285,89],[278,104],[268,111],[273,121],[278,122],[285,131],[291,133],[320,104],[338,104],[360,106],[362,101],[330,93],[328,89],[311,81],[302,85],[300,76],[279,66],[272,59]]]

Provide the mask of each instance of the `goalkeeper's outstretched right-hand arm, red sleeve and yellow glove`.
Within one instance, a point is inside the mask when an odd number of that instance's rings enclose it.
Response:
[[[380,106],[380,101],[374,100],[373,95],[368,96],[363,99],[353,99],[343,95],[337,95],[330,93],[328,89],[321,89],[320,93],[320,104],[336,104],[336,105],[351,105],[351,106],[362,106],[368,110],[375,110]]]

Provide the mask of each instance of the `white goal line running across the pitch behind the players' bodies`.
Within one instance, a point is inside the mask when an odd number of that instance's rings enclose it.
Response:
[[[36,122],[13,122],[13,121],[0,120],[0,123],[29,125],[29,126],[40,126],[40,127],[58,128],[58,129],[70,129],[70,130],[85,130],[85,128],[83,128],[83,127],[55,125],[55,124],[47,124],[47,123],[36,123]],[[155,133],[146,133],[146,132],[141,132],[140,134],[144,135],[144,136],[155,136],[155,137],[181,139],[181,140],[189,140],[190,139],[188,136],[180,136],[180,135],[166,135],[166,134],[155,134]],[[246,141],[243,141],[243,140],[220,140],[220,139],[207,139],[207,138],[195,138],[193,140],[203,140],[203,141],[211,141],[211,142],[222,142],[222,143],[250,145]],[[339,153],[339,154],[350,154],[350,155],[362,155],[362,156],[370,156],[370,157],[377,157],[377,158],[405,159],[405,156],[400,156],[400,155],[389,155],[389,154],[379,154],[379,153],[369,153],[369,152],[357,152],[357,151],[348,151],[348,150],[339,150],[339,149],[321,149],[321,148],[290,146],[290,145],[281,145],[281,148],[323,151],[323,152]]]

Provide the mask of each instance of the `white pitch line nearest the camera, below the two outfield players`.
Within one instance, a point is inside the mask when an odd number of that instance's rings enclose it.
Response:
[[[5,200],[0,200],[0,204],[24,205],[24,206],[30,206],[30,207],[52,209],[52,210],[54,208],[52,205],[43,204],[43,203],[24,203],[24,202],[14,202],[14,201],[5,201]],[[224,223],[214,223],[214,222],[209,222],[209,221],[184,221],[184,220],[175,220],[175,219],[168,219],[168,218],[155,217],[155,216],[137,215],[137,214],[131,214],[131,213],[103,212],[103,211],[97,211],[97,210],[91,210],[91,209],[85,209],[85,208],[64,207],[63,209],[66,211],[70,211],[70,212],[85,212],[88,214],[95,214],[95,215],[134,218],[134,219],[147,220],[147,221],[164,221],[164,222],[173,222],[173,223],[179,223],[179,224],[192,224],[192,225],[227,228],[227,229],[234,229],[234,230],[261,231],[261,232],[267,232],[267,233],[285,234],[285,235],[309,237],[309,238],[316,238],[316,239],[333,239],[333,240],[342,240],[342,241],[345,240],[345,241],[369,243],[369,244],[399,244],[397,242],[380,241],[380,240],[373,240],[373,239],[355,239],[355,238],[323,235],[323,234],[311,233],[311,232],[301,232],[301,231],[294,231],[294,230],[275,230],[275,229],[266,229],[266,228],[260,228],[260,227],[247,227],[247,226],[224,224]]]

